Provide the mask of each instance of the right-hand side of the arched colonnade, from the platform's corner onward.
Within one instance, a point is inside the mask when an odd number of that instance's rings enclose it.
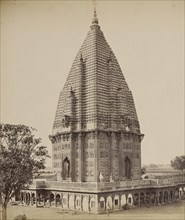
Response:
[[[156,206],[173,203],[178,199],[185,198],[185,187],[159,188],[155,190],[130,190],[119,193],[106,193],[100,195],[99,209],[101,211],[124,209],[127,205],[133,206]]]

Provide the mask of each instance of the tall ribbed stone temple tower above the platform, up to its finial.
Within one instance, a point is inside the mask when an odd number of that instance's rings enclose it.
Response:
[[[61,181],[140,179],[142,138],[132,93],[94,11],[59,96],[53,170]]]

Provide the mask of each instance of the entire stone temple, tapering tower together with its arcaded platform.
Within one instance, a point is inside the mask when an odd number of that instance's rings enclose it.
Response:
[[[22,192],[22,201],[101,213],[182,197],[184,175],[141,179],[143,137],[132,92],[94,11],[49,136],[57,181],[34,182]]]

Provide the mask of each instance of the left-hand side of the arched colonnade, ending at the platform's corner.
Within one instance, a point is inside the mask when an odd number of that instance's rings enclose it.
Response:
[[[67,193],[55,191],[22,191],[22,205],[36,207],[61,207],[65,210],[97,212],[97,196],[83,193]]]

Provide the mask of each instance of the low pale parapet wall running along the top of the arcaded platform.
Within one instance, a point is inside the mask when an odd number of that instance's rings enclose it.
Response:
[[[143,188],[171,186],[185,183],[185,174],[169,176],[168,178],[154,178],[146,180],[128,180],[117,182],[64,182],[35,180],[30,185],[30,189],[66,189],[72,191],[98,192],[115,189]]]

